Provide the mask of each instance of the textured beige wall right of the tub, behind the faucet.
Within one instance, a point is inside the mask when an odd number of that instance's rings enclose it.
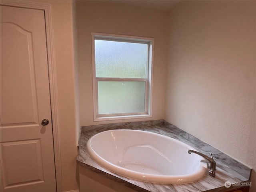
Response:
[[[254,168],[256,2],[182,1],[169,13],[165,120]]]

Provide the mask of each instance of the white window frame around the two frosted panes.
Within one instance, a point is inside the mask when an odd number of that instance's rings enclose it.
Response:
[[[122,41],[122,42],[134,42],[134,43],[148,44],[148,66],[147,66],[146,78],[98,78],[98,77],[96,78],[94,40],[114,40],[114,41]],[[92,32],[92,76],[93,76],[94,121],[152,117],[153,56],[154,56],[154,38],[124,36],[124,35],[116,35],[116,34],[103,34],[103,33]],[[144,110],[144,112],[98,114],[98,81],[144,81],[145,82],[145,107],[144,107],[145,110]]]

